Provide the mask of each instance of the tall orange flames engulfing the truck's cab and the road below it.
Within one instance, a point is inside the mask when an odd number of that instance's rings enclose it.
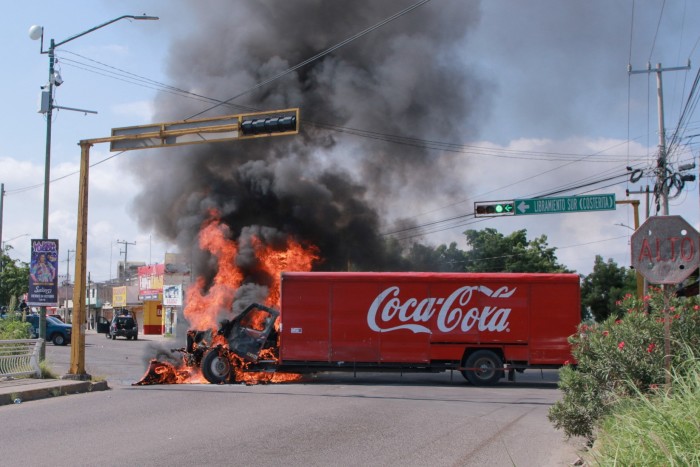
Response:
[[[233,309],[234,297],[244,289],[243,274],[236,266],[238,248],[226,238],[228,229],[216,218],[207,222],[200,233],[200,247],[207,249],[219,262],[213,285],[205,292],[200,278],[188,293],[184,316],[197,330],[187,332],[187,344],[172,349],[180,353],[181,363],[152,359],[145,375],[134,385],[183,383],[271,383],[295,381],[299,375],[266,371],[277,362],[279,311],[251,303],[231,319],[223,319],[212,328],[222,311]],[[304,249],[289,242],[285,250],[275,250],[253,239],[259,272],[270,276],[266,289],[267,303],[279,306],[279,275],[293,268],[310,270],[317,259],[315,249]],[[262,289],[260,289],[262,290]]]

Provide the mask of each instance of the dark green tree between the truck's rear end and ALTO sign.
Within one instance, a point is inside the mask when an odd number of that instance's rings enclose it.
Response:
[[[626,294],[636,293],[636,289],[634,271],[618,266],[612,259],[605,262],[596,255],[593,272],[581,284],[581,316],[590,312],[597,322],[602,322],[619,311],[616,302]]]

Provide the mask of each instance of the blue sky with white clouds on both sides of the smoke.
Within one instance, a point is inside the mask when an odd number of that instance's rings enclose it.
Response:
[[[442,2],[458,8],[450,0],[433,0],[421,8],[440,8]],[[165,114],[157,108],[162,102],[157,99],[159,91],[153,89],[157,86],[115,79],[114,73],[98,74],[91,66],[76,66],[74,60],[90,65],[100,63],[115,72],[122,70],[157,83],[180,86],[183,79],[175,70],[180,69],[183,43],[190,36],[206,36],[207,21],[216,16],[217,8],[230,3],[78,0],[66,6],[31,1],[13,2],[6,8],[6,14],[0,18],[6,58],[0,76],[5,109],[0,136],[0,182],[7,192],[3,240],[14,239],[10,244],[17,256],[28,259],[29,238],[41,235],[42,222],[46,122],[36,108],[40,86],[47,80],[48,57],[39,53],[38,41],[29,39],[29,27],[44,26],[46,47],[50,38],[60,41],[121,15],[146,13],[160,17],[159,21],[122,20],[59,48],[57,68],[64,83],[56,91],[56,105],[98,112],[54,113],[51,178],[65,178],[51,185],[49,236],[60,240],[61,260],[65,261],[66,251],[75,248],[75,173],[80,156],[77,143],[108,136],[114,127],[151,123]],[[234,3],[250,7],[245,0]],[[351,8],[352,3],[347,3]],[[394,3],[399,10],[412,2]],[[436,156],[452,176],[463,177],[463,192],[450,190],[430,199],[402,192],[401,197],[385,201],[384,209],[396,217],[427,224],[471,212],[474,201],[529,198],[566,184],[605,178],[619,173],[630,161],[639,164],[647,158],[651,167],[658,141],[655,75],[630,77],[627,65],[643,69],[651,62],[652,66],[661,63],[671,67],[691,60],[690,71],[663,75],[669,132],[678,122],[700,65],[700,5],[678,1],[666,2],[662,8],[662,4],[650,0],[596,0],[585,4],[489,0],[480,6],[477,2],[464,2],[473,18],[465,25],[461,53],[449,59],[469,70],[474,82],[483,84],[480,98],[474,100],[478,107],[472,109],[480,118],[478,125],[464,128],[463,138],[450,142],[467,144],[476,150]],[[207,11],[196,13],[193,5]],[[414,14],[420,14],[420,10]],[[368,19],[361,29],[381,19]],[[400,29],[400,23],[395,27]],[[318,51],[345,38],[319,43]],[[212,35],[212,42],[218,40]],[[339,57],[355,53],[352,47],[336,53]],[[196,70],[188,75],[189,85],[196,90]],[[222,94],[211,97],[230,97]],[[177,97],[168,102],[177,102]],[[183,103],[187,108],[195,105]],[[183,112],[176,118],[187,116]],[[686,136],[700,133],[698,120],[697,115],[691,114]],[[679,152],[673,163],[697,158],[694,140],[683,142],[690,146]],[[107,145],[92,150],[93,163],[110,156]],[[152,230],[148,222],[139,225],[133,214],[136,195],[148,193],[153,187],[144,190],[143,178],[134,177],[129,167],[138,158],[148,157],[148,151],[125,153],[90,171],[88,270],[93,280],[114,276],[123,248],[117,240],[136,242],[129,246],[130,260],[162,262],[164,252],[175,251],[176,247]],[[154,180],[162,183],[158,177]],[[626,199],[625,189],[638,190],[650,182],[643,179],[635,185],[610,187],[603,183],[599,185],[602,188],[590,193],[579,190],[566,194],[615,193],[618,199]],[[689,183],[671,201],[671,214],[682,215],[697,226],[698,196],[698,183]],[[644,208],[644,198],[636,199]],[[434,243],[455,241],[465,248],[462,231],[467,228],[493,227],[504,233],[525,228],[530,238],[547,235],[549,245],[557,248],[560,262],[585,274],[590,272],[595,254],[621,265],[629,264],[632,231],[628,226],[633,225],[633,220],[631,209],[620,206],[604,213],[519,216],[472,220],[452,227],[440,225],[444,228],[434,229],[422,239]],[[62,272],[65,267],[62,262]]]

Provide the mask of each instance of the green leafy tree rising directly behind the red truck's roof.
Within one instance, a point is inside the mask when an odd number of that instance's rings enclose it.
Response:
[[[546,235],[528,241],[525,229],[506,237],[491,228],[464,234],[471,247],[464,255],[468,272],[571,272],[557,262]]]

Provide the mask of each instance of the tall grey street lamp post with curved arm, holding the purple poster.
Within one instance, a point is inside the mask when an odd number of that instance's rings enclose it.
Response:
[[[52,120],[52,113],[53,109],[56,107],[53,105],[53,87],[54,85],[60,86],[63,83],[63,80],[61,79],[60,75],[58,75],[55,70],[54,70],[54,63],[55,63],[55,50],[56,47],[59,47],[67,42],[70,42],[74,39],[77,39],[79,37],[82,37],[86,34],[89,34],[93,31],[96,31],[98,29],[101,29],[105,26],[108,26],[112,23],[115,23],[119,20],[122,19],[134,19],[134,20],[157,20],[157,16],[134,16],[134,15],[124,15],[120,16],[118,18],[114,18],[112,20],[107,21],[106,23],[99,24],[93,28],[88,29],[87,31],[83,31],[79,34],[76,34],[74,36],[71,36],[67,39],[64,39],[62,41],[56,42],[54,39],[51,39],[49,42],[49,48],[48,50],[44,50],[44,28],[42,26],[37,26],[34,25],[29,28],[29,37],[32,40],[39,40],[41,39],[41,46],[40,46],[40,52],[42,54],[48,54],[49,55],[49,83],[47,85],[48,92],[45,95],[46,96],[46,161],[44,163],[44,214],[43,214],[43,223],[42,223],[42,239],[47,239],[49,238],[49,179],[50,179],[50,173],[51,173],[51,120]],[[43,107],[43,105],[42,105]],[[75,109],[72,109],[75,110]],[[46,307],[41,307],[41,313],[39,317],[39,337],[42,339],[46,339]],[[43,359],[45,355],[45,347],[42,345],[41,348],[41,358]]]

